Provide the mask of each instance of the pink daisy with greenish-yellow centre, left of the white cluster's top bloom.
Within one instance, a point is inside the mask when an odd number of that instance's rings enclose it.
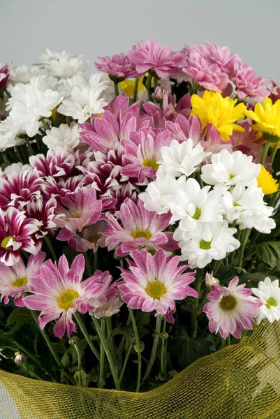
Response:
[[[121,174],[128,177],[137,177],[140,183],[145,182],[145,177],[156,178],[158,161],[162,159],[161,147],[170,145],[172,138],[167,130],[155,133],[152,130],[131,133],[129,140],[121,144],[131,164],[121,170]]]

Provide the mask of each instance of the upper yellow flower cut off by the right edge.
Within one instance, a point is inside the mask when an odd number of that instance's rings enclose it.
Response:
[[[265,98],[263,105],[256,103],[255,110],[246,110],[245,115],[256,121],[252,129],[259,137],[271,142],[280,141],[280,99],[272,104],[270,98]]]

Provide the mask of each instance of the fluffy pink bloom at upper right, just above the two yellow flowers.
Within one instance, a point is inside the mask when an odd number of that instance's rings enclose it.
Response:
[[[265,79],[256,76],[253,68],[248,64],[235,63],[234,75],[231,80],[236,84],[236,93],[238,98],[263,99],[269,96],[270,91],[265,87]]]

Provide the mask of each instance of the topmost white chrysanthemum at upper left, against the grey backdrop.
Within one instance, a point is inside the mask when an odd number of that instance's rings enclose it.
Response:
[[[83,73],[89,67],[89,61],[83,60],[82,55],[71,55],[66,51],[59,53],[47,49],[40,54],[39,59],[47,73],[56,78],[69,78]]]

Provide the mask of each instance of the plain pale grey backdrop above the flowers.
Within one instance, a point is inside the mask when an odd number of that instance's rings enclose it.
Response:
[[[127,52],[154,38],[228,45],[258,75],[280,82],[280,0],[0,0],[0,62],[38,62],[45,50],[98,55]]]

